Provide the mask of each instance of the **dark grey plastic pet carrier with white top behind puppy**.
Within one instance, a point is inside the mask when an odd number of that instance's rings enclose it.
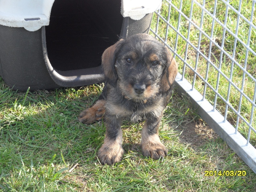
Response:
[[[14,90],[104,81],[101,55],[148,33],[161,0],[0,0],[0,76]]]

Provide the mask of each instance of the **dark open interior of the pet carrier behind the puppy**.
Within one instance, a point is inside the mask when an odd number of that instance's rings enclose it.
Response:
[[[68,71],[100,66],[104,50],[118,41],[120,7],[120,0],[55,0],[45,26],[52,67]]]

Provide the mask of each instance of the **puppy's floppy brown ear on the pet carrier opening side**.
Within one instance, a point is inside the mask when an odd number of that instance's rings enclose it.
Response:
[[[108,47],[102,54],[102,67],[105,75],[105,80],[112,86],[116,86],[117,82],[117,73],[115,69],[116,62],[116,53],[121,48],[121,42],[123,39],[120,39],[116,44]]]

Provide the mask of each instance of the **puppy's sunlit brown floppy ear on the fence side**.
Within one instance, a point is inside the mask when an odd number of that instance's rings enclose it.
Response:
[[[165,54],[167,58],[167,66],[163,71],[160,82],[160,92],[164,93],[171,89],[174,79],[178,73],[178,65],[172,57],[172,53],[165,47]]]

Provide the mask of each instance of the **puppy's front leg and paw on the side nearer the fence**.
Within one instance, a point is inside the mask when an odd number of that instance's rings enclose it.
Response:
[[[158,136],[161,118],[162,116],[155,117],[149,114],[141,131],[142,154],[152,159],[159,159],[167,155],[167,149]]]

